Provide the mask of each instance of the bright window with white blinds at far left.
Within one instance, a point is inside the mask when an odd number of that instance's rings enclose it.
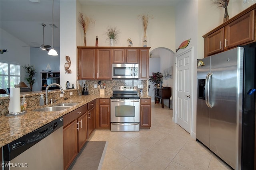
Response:
[[[20,82],[20,65],[0,63],[0,88],[14,87]]]

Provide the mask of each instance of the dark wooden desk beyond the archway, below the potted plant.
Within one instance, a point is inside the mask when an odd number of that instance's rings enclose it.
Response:
[[[171,105],[170,97],[172,96],[171,87],[166,88],[155,88],[155,104],[156,104],[156,98],[159,98],[162,104],[162,108],[164,108],[164,99],[169,100],[169,109]]]

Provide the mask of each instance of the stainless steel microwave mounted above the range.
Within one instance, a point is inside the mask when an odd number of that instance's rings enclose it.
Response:
[[[112,64],[112,78],[139,78],[139,64]]]

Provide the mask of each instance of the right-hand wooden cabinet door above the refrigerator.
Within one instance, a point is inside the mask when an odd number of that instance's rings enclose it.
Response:
[[[229,49],[254,40],[255,11],[252,10],[225,27],[225,48]]]

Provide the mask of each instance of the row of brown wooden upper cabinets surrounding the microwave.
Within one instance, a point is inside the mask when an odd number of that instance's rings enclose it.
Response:
[[[139,64],[139,79],[148,80],[150,47],[77,47],[78,79],[111,80],[112,63]]]

